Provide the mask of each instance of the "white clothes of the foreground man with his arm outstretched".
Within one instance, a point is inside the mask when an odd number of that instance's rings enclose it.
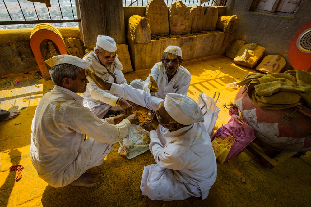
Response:
[[[112,84],[110,92],[151,110],[163,101],[126,85]],[[217,164],[203,122],[172,132],[159,125],[150,137],[149,149],[157,164],[144,168],[142,194],[152,200],[205,199],[216,180]]]

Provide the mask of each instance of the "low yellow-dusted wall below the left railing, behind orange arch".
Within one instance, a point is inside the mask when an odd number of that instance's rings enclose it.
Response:
[[[57,28],[63,38],[81,39],[78,27]],[[0,30],[0,75],[39,70],[30,47],[31,28]]]

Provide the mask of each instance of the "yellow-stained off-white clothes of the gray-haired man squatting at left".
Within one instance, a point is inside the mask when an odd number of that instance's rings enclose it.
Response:
[[[39,177],[53,187],[66,186],[102,164],[131,125],[128,119],[116,125],[113,118],[101,120],[82,101],[76,93],[55,86],[36,108],[30,156]],[[86,134],[90,138],[84,141]]]

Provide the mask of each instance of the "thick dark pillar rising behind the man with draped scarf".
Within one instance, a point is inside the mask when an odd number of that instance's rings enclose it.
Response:
[[[79,0],[84,46],[93,49],[97,35],[108,35],[117,44],[125,43],[122,0]]]

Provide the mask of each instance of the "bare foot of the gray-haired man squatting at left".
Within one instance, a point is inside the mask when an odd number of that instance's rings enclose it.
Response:
[[[103,182],[104,177],[104,174],[85,172],[80,176],[80,178],[70,183],[70,185],[91,187]]]

